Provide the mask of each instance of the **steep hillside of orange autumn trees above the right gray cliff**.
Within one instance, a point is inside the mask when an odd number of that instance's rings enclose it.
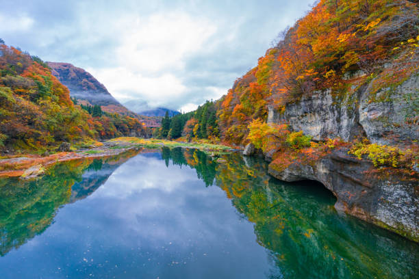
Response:
[[[396,88],[418,70],[418,15],[407,0],[319,1],[221,100],[223,139],[245,144],[249,123],[266,120],[268,105],[283,113],[324,90],[351,105],[372,81],[370,101],[384,101],[376,94],[381,88]],[[411,117],[417,122],[417,114]]]

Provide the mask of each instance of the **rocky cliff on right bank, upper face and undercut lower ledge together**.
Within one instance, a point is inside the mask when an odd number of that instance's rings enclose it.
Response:
[[[419,71],[392,88],[374,91],[380,75],[355,94],[337,98],[331,90],[313,92],[285,106],[281,114],[268,108],[268,123],[287,123],[316,141],[340,137],[406,148],[419,140]],[[318,161],[294,161],[287,168],[271,163],[269,173],[283,181],[320,181],[338,199],[335,208],[414,241],[419,241],[418,172],[380,170],[366,159],[338,148]]]

